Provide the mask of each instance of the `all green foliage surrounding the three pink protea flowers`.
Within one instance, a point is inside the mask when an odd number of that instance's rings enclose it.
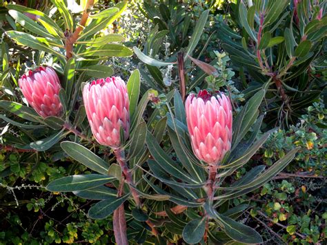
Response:
[[[324,243],[318,6],[301,1],[297,23],[286,0],[99,0],[85,12],[86,0],[27,2],[0,1],[0,244],[114,244],[117,222],[130,244]],[[19,77],[40,65],[60,77],[61,117],[39,117],[19,92]],[[92,137],[81,98],[83,82],[111,75],[128,81],[130,137],[120,155]],[[226,92],[234,114],[213,199],[184,110],[186,92],[203,89]],[[274,115],[280,107],[296,124],[270,130],[286,118]]]

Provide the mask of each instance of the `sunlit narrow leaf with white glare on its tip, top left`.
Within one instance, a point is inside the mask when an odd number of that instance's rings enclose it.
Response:
[[[12,18],[14,18],[17,23],[23,26],[26,30],[34,32],[36,35],[40,35],[41,37],[53,38],[53,36],[50,35],[48,31],[43,28],[43,26],[40,26],[37,22],[32,21],[32,19],[30,19],[30,17],[27,17],[25,14],[22,14],[17,10],[9,10],[8,13]]]

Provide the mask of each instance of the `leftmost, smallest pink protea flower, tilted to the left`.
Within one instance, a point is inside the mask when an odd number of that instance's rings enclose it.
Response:
[[[61,89],[57,73],[49,66],[30,70],[18,80],[28,104],[41,117],[61,116],[63,106],[59,99]]]

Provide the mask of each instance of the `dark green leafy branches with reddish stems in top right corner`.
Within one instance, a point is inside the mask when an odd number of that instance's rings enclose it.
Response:
[[[232,28],[217,23],[222,47],[243,77],[244,96],[251,97],[261,84],[272,81],[266,95],[268,121],[278,117],[281,125],[295,124],[304,108],[326,93],[324,79],[311,72],[315,66],[320,72],[326,69],[321,62],[326,59],[326,17],[317,19],[324,5],[315,4],[239,0],[230,3]]]

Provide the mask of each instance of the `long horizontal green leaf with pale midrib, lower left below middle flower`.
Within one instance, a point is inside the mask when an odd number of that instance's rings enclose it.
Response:
[[[46,189],[59,192],[87,190],[97,186],[102,186],[103,184],[112,182],[115,179],[115,177],[108,175],[70,175],[68,177],[55,179],[46,186]]]

